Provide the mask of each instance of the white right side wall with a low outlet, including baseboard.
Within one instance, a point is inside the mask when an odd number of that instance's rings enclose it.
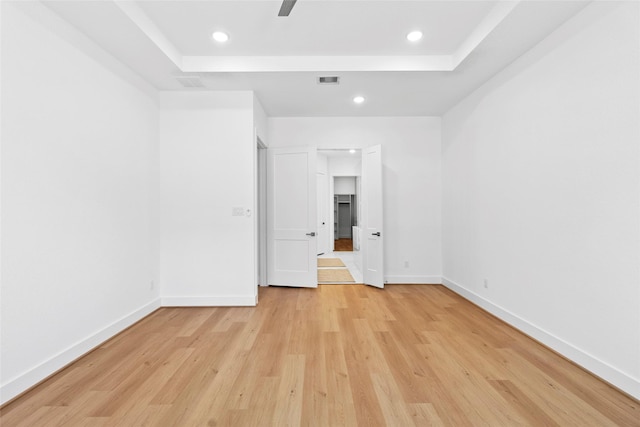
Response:
[[[635,397],[639,22],[594,2],[443,118],[445,283]]]

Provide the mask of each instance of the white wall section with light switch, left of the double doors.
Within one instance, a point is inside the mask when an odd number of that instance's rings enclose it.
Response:
[[[160,95],[163,305],[256,302],[253,102],[252,92]]]

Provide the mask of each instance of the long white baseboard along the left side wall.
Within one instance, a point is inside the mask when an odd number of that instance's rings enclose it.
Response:
[[[158,308],[160,308],[159,298],[116,320],[82,341],[73,344],[27,372],[8,380],[0,386],[0,405],[10,401],[40,381],[56,373],[119,332],[122,332],[145,316],[153,313]]]

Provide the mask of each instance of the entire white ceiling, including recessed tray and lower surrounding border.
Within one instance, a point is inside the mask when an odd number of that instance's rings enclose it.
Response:
[[[278,17],[279,0],[45,2],[157,89],[253,90],[272,117],[441,115],[586,3],[298,0]]]

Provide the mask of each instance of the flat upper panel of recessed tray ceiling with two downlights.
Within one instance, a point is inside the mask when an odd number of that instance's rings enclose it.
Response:
[[[300,0],[289,17],[279,1],[141,2],[184,55],[424,55],[454,51],[491,9],[489,2]],[[427,34],[407,43],[411,29]],[[231,35],[219,45],[213,29]],[[437,37],[430,37],[437,35]]]

